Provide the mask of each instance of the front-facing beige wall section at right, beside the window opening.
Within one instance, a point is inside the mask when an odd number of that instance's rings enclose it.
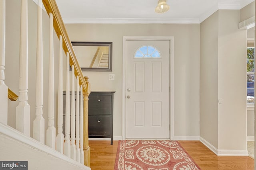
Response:
[[[223,102],[218,104],[218,149],[247,148],[247,37],[246,30],[238,30],[239,21],[239,10],[219,10],[218,99]]]

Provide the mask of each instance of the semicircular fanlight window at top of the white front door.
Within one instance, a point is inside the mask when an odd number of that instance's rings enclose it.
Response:
[[[150,45],[144,45],[140,47],[135,55],[134,58],[160,58],[159,51]]]

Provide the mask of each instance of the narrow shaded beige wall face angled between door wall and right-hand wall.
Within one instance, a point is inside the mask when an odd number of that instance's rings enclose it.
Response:
[[[200,137],[218,148],[218,12],[200,24]]]

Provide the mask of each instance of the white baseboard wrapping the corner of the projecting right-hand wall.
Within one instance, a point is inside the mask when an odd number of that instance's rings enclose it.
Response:
[[[217,156],[248,156],[248,150],[227,150],[227,149],[216,149],[212,144],[200,137],[202,142],[208,149],[212,150]]]

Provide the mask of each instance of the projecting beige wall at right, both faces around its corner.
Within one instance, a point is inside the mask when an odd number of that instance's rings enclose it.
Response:
[[[218,10],[201,23],[200,137],[218,150],[246,150],[246,30],[239,22],[240,10]]]

